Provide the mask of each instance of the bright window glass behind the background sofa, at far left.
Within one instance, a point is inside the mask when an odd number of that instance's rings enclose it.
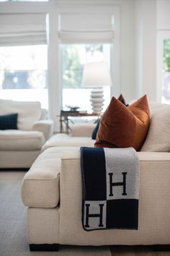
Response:
[[[48,108],[47,46],[0,47],[1,98],[40,101]]]

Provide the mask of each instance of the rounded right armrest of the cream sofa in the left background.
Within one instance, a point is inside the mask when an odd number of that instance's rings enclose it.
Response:
[[[47,119],[36,121],[33,124],[32,130],[42,132],[46,141],[53,135],[53,120]]]

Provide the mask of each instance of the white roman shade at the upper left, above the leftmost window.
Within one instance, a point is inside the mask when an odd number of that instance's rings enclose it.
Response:
[[[46,14],[0,14],[0,46],[46,43]]]

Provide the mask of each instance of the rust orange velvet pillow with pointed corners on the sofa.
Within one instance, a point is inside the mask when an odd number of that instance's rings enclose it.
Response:
[[[128,106],[112,97],[102,116],[97,132],[96,148],[128,148],[140,150],[150,123],[146,95]]]

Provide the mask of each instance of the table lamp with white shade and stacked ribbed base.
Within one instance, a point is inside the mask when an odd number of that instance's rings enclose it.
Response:
[[[105,62],[93,62],[84,64],[82,87],[93,88],[91,90],[91,106],[93,113],[102,113],[104,105],[103,86],[112,86],[109,69]]]

